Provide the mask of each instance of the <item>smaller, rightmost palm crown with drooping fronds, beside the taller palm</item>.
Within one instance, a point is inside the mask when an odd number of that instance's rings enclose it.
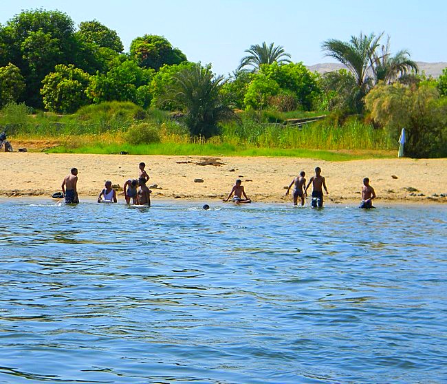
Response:
[[[374,75],[376,83],[383,81],[390,84],[396,78],[406,75],[411,70],[416,73],[419,70],[415,61],[411,60],[407,50],[400,50],[394,56],[390,52],[390,36],[386,39],[386,45],[380,47],[380,54],[374,54]]]

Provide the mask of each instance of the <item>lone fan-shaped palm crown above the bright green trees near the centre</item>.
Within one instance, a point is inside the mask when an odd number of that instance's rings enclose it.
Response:
[[[285,52],[282,45],[274,47],[274,43],[271,43],[267,46],[265,41],[262,45],[251,45],[250,48],[244,52],[247,52],[249,55],[242,58],[238,70],[241,70],[241,68],[245,67],[246,65],[251,65],[255,71],[259,69],[259,65],[261,64],[272,64],[275,61],[278,64],[292,62],[290,61],[290,54]]]

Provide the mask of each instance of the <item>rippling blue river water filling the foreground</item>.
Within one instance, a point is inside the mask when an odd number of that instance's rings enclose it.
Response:
[[[447,381],[447,206],[0,203],[0,383]]]

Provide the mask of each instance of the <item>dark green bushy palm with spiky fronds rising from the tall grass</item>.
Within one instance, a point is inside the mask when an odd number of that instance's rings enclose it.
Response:
[[[190,136],[210,138],[219,133],[219,122],[232,116],[232,109],[221,96],[223,83],[222,76],[215,76],[210,66],[199,63],[174,75],[164,100],[182,106]]]

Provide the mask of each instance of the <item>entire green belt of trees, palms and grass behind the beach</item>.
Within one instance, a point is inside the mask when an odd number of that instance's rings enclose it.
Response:
[[[407,156],[447,156],[447,70],[419,75],[382,41],[328,39],[323,52],[348,70],[324,75],[264,42],[225,78],[163,36],[135,37],[127,53],[99,21],[23,11],[0,25],[0,130],[52,138],[52,151],[346,160],[389,156],[405,127]]]

